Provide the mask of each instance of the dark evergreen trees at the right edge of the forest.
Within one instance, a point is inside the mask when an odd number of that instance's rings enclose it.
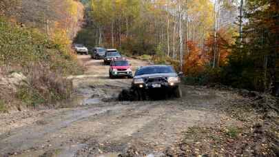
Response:
[[[233,45],[229,65],[224,67],[225,85],[267,91],[278,78],[278,1],[246,1],[243,38]],[[275,74],[277,73],[277,76]]]

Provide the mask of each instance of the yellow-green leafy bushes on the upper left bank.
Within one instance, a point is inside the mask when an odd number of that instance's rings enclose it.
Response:
[[[38,30],[19,28],[4,19],[0,19],[0,63],[23,68],[43,63],[62,74],[75,74],[81,70],[63,43],[51,41]]]

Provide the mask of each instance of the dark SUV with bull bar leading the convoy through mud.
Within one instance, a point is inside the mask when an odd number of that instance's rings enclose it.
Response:
[[[166,96],[180,98],[180,75],[182,72],[176,73],[170,65],[139,67],[134,75],[131,90],[138,100],[145,100],[149,95],[158,95],[162,91]]]

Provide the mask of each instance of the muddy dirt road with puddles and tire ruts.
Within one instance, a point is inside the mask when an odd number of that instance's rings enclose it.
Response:
[[[214,125],[216,110],[234,94],[183,86],[183,98],[118,102],[132,79],[109,79],[102,60],[79,56],[87,67],[74,81],[76,101],[62,109],[0,116],[0,156],[116,156],[128,147],[159,156],[194,125]],[[133,68],[146,65],[132,60]],[[74,105],[72,105],[74,104]]]

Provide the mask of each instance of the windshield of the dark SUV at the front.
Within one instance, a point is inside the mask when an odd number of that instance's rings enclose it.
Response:
[[[158,74],[158,73],[175,73],[174,68],[171,66],[162,67],[144,67],[136,71],[136,76],[143,74]]]

